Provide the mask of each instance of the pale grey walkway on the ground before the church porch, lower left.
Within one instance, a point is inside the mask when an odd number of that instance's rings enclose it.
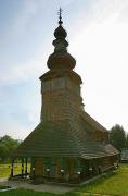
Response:
[[[65,194],[72,192],[75,187],[67,187],[55,184],[39,184],[34,185],[24,181],[9,181],[8,179],[0,179],[0,185],[12,186],[15,188],[34,189],[36,192],[49,192],[54,194]]]

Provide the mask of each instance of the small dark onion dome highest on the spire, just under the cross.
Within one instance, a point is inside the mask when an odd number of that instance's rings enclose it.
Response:
[[[65,39],[67,36],[67,33],[66,30],[61,26],[59,25],[59,27],[54,30],[54,37],[57,39],[57,38],[63,38]]]

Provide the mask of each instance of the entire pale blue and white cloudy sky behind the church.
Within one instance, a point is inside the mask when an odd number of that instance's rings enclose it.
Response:
[[[128,1],[0,0],[0,136],[25,138],[40,121],[40,81],[62,7],[85,110],[128,131]]]

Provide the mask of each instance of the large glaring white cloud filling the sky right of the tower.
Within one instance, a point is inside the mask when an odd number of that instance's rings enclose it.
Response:
[[[76,71],[82,76],[86,111],[108,128],[120,123],[126,131],[128,24],[120,15],[127,4],[99,1],[88,26],[81,26],[80,33],[75,30],[78,35],[72,39],[69,49],[77,59]]]

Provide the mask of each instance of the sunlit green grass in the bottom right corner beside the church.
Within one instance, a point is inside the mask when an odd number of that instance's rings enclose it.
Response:
[[[95,182],[77,189],[79,193],[100,193],[128,196],[128,166],[121,166],[118,171],[107,174]]]

